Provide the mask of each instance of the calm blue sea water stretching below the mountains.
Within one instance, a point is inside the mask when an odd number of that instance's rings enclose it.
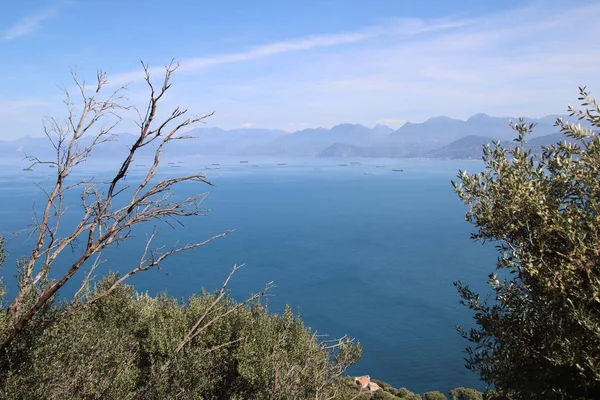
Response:
[[[466,207],[450,185],[459,169],[475,172],[481,164],[361,160],[344,167],[335,160],[284,161],[287,165],[197,158],[177,170],[165,166],[169,174],[221,164],[206,171],[216,186],[182,185],[175,193],[209,192],[204,205],[212,209],[210,215],[188,218],[175,228],[161,226],[157,244],[235,232],[131,283],[141,291],[183,297],[218,288],[234,264],[245,263],[231,284],[232,295],[242,300],[274,281],[271,310],[290,304],[319,333],[349,334],[360,341],[363,359],[349,373],[415,392],[483,388],[464,368],[466,343],[455,327],[472,319],[458,304],[452,282],[484,288],[496,254],[470,240]],[[89,165],[85,174],[101,179],[114,167]],[[40,211],[43,196],[35,183],[44,186],[53,170],[25,172],[7,164],[2,171],[0,235],[9,238],[11,259],[3,274],[10,276],[14,259],[31,244],[26,235],[14,233],[32,221],[33,210]],[[128,177],[130,183],[136,179]],[[75,220],[75,210],[65,223]],[[107,252],[101,268],[126,270],[135,263],[147,230]]]

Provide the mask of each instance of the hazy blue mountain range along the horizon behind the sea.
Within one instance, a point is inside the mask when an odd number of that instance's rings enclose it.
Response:
[[[527,123],[537,124],[529,138],[532,145],[539,147],[560,140],[558,128],[554,126],[557,117],[524,118]],[[165,155],[478,159],[482,145],[516,137],[510,120],[518,121],[518,118],[476,114],[465,121],[434,117],[422,123],[407,122],[397,130],[385,125],[368,128],[347,123],[331,129],[304,129],[293,133],[207,127],[187,132],[197,139],[175,141]],[[133,135],[120,134],[116,141],[103,144],[98,154],[111,157],[125,154],[133,140]],[[45,138],[0,141],[2,158],[22,157],[24,153],[48,157],[51,150]]]

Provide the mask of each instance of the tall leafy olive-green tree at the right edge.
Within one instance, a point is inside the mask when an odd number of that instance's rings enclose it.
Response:
[[[485,170],[453,182],[473,238],[500,252],[491,301],[456,286],[477,323],[467,367],[501,396],[600,398],[600,107],[580,100],[569,111],[592,129],[559,119],[565,141],[534,154],[521,121],[514,146],[486,146]]]

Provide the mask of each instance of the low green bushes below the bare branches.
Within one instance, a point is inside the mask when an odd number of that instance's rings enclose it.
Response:
[[[234,309],[228,298],[209,318],[234,311],[175,352],[214,299],[181,303],[121,285],[67,318],[54,304],[38,314],[43,326],[30,324],[1,358],[0,398],[321,399],[338,392],[340,371],[360,358],[348,340],[326,348],[289,308]]]

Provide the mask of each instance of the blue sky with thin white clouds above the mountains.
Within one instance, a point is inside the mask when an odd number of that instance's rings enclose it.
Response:
[[[127,102],[179,62],[162,115],[283,129],[561,114],[600,93],[600,2],[591,0],[5,0],[0,139],[62,118],[70,70],[106,71]],[[133,129],[133,115],[119,127]]]

